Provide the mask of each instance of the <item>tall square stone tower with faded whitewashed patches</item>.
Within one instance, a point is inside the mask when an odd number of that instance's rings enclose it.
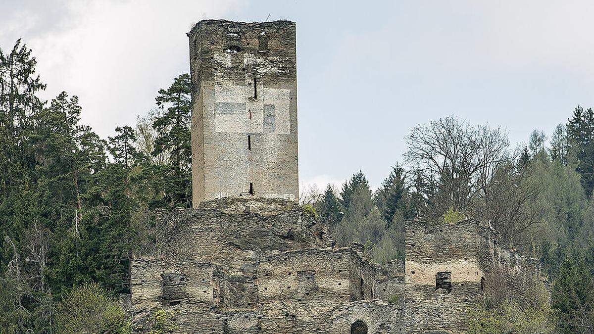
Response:
[[[298,200],[295,23],[204,20],[188,37],[194,207]]]

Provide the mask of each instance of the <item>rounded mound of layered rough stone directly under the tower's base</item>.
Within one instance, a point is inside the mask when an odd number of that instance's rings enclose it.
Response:
[[[327,243],[321,226],[294,201],[221,198],[165,221],[158,244],[168,261],[189,258],[242,270],[270,254]]]

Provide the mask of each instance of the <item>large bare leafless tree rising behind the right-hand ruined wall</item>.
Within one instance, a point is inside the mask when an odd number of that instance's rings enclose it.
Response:
[[[453,117],[419,125],[407,144],[406,162],[438,187],[435,216],[448,207],[469,213],[497,168],[510,161],[509,141],[500,128],[470,126]]]

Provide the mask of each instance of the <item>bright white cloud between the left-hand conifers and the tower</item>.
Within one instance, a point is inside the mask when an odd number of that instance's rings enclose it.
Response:
[[[185,33],[194,23],[242,8],[239,0],[60,4],[58,18],[46,17],[54,13],[43,6],[14,10],[0,41],[12,43],[17,31],[23,33],[48,84],[43,97],[62,90],[78,95],[83,122],[103,137],[117,125],[134,124],[154,105],[159,88],[188,72]]]

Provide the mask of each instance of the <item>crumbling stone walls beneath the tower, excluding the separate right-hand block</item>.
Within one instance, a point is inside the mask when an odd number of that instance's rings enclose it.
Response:
[[[324,226],[295,201],[220,198],[159,219],[159,253],[131,261],[137,319],[173,310],[181,333],[336,333],[377,316],[378,333],[400,326],[402,305],[353,305],[372,300],[388,271],[361,245],[327,247]]]

